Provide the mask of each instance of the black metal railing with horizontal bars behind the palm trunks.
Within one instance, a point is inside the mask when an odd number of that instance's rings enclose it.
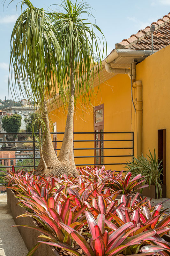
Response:
[[[103,140],[96,140],[96,134],[103,134]],[[63,134],[64,132],[53,132],[51,133],[53,137],[53,143],[54,143],[54,150],[56,154],[61,149],[61,142],[63,142]],[[0,133],[0,135],[3,135],[4,140],[0,141],[0,144],[4,144],[5,148],[2,147],[0,150],[0,163],[2,165],[3,162],[5,163],[5,166],[0,166],[0,168],[11,168],[11,164],[7,164],[7,160],[24,160],[24,159],[32,159],[32,164],[23,165],[22,167],[33,167],[33,169],[36,168],[36,160],[40,159],[39,155],[39,149],[36,147],[36,140],[35,136],[32,133],[26,133],[26,132],[20,132],[20,133]],[[7,141],[5,138],[6,136],[25,136],[25,137],[31,137],[32,140],[11,140]],[[74,135],[74,158],[76,166],[93,166],[93,165],[121,165],[126,164],[127,160],[132,160],[132,156],[134,156],[134,132],[73,132]],[[78,138],[80,136],[80,138]],[[82,138],[83,137],[83,138]],[[99,143],[102,142],[102,147],[99,147]],[[31,148],[26,148],[26,146],[18,148],[18,143],[31,143]],[[6,146],[7,144],[14,144]],[[85,150],[85,151],[84,151]],[[87,151],[88,150],[88,151]],[[102,151],[99,151],[102,150]],[[13,152],[15,151],[15,157],[14,155],[11,157],[2,157],[4,152]],[[25,153],[24,153],[25,152]],[[27,152],[27,153],[26,153]],[[82,152],[82,154],[81,154]],[[87,152],[87,153],[86,153]],[[102,155],[97,154],[96,152],[104,152]],[[119,154],[121,152],[121,154]],[[122,161],[123,159],[126,159],[125,161]],[[85,159],[88,159],[89,161],[85,161]],[[99,161],[100,159],[103,159],[102,163]],[[110,159],[110,161],[108,161]],[[115,161],[114,159],[121,159],[121,161]],[[93,161],[91,161],[93,160]],[[15,167],[19,168],[20,165],[17,165],[17,161],[14,164]],[[89,163],[90,162],[90,163]],[[100,163],[99,163],[100,162]],[[11,162],[10,162],[11,163]],[[7,165],[6,165],[7,164]],[[1,169],[0,169],[1,170]],[[0,174],[0,177],[3,177],[2,174]],[[0,184],[3,182],[0,181]]]

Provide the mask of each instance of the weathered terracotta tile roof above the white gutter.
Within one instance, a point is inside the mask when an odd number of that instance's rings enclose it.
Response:
[[[162,19],[157,20],[157,22],[152,22],[152,24],[155,25],[155,31],[153,32],[153,50],[159,51],[170,44],[170,12]],[[116,48],[151,50],[150,26],[147,26],[145,29],[140,29],[137,34],[131,35],[128,39],[123,39],[122,42],[116,44]]]

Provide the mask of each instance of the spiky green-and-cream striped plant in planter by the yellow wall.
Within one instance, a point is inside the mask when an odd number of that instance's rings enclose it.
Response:
[[[160,197],[162,197],[162,180],[163,180],[163,165],[162,160],[159,161],[158,157],[156,157],[156,151],[154,149],[154,154],[152,155],[150,149],[149,153],[146,154],[146,157],[142,154],[141,156],[135,157],[133,156],[134,162],[128,162],[127,167],[133,176],[137,174],[141,174],[144,176],[145,181],[144,184],[149,184],[149,188],[151,185],[156,186],[156,193],[158,197],[158,191],[160,193]]]

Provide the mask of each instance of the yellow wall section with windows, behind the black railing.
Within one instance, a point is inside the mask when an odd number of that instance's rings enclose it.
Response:
[[[95,92],[97,92],[95,87]],[[124,132],[132,131],[131,125],[131,94],[130,79],[128,75],[116,75],[109,79],[107,83],[100,84],[99,92],[96,97],[92,97],[89,103],[83,109],[77,104],[74,116],[74,132],[93,132],[93,106],[104,103],[104,131],[105,132]],[[81,99],[79,100],[81,102]],[[64,132],[66,114],[62,108],[55,109],[51,112],[50,118],[52,123],[56,122],[57,132]],[[62,140],[63,135],[58,135],[58,139]],[[93,134],[74,135],[74,140],[93,140]],[[131,139],[131,134],[105,134],[105,140],[110,139]],[[61,143],[57,143],[60,148]],[[113,147],[131,147],[131,142],[105,142],[105,148]],[[94,142],[74,142],[74,148],[93,148]],[[94,150],[75,150],[75,156],[94,156]],[[105,156],[109,155],[129,155],[132,154],[131,149],[106,149]],[[130,157],[106,157],[105,164],[109,163],[126,163],[131,160]],[[75,158],[76,164],[93,164],[94,158]],[[116,169],[118,171],[125,169],[124,165],[106,165],[106,169]]]

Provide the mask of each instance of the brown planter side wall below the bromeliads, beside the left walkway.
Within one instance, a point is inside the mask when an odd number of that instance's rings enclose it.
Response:
[[[17,216],[24,213],[23,208],[17,203],[19,200],[14,197],[14,192],[7,188],[7,205],[12,213],[12,217],[16,225],[28,225],[32,227],[38,227],[35,220],[31,217],[20,217],[16,219]],[[14,228],[14,227],[13,227]],[[30,251],[37,241],[42,240],[38,238],[41,233],[35,229],[18,227],[19,233],[22,236],[24,243],[26,244],[27,249]],[[34,256],[59,256],[58,252],[54,247],[41,244],[39,248],[34,252]]]

